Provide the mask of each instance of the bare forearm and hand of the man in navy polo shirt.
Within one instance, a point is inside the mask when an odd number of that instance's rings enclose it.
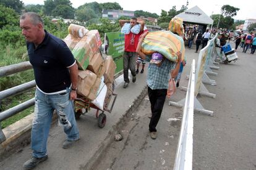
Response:
[[[70,79],[71,79],[71,92],[70,92],[70,100],[74,100],[77,99],[77,79],[78,79],[78,67],[77,67],[77,63],[75,63],[74,65],[72,65],[71,67],[69,67],[69,71],[70,71]],[[75,89],[75,90],[72,90]]]

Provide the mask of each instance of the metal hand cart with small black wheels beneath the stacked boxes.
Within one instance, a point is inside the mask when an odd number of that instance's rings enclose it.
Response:
[[[113,89],[114,89],[114,87],[113,87]],[[96,107],[96,105],[94,105],[93,103],[91,103],[90,100],[88,100],[85,97],[82,97],[80,95],[77,95],[77,99],[74,100],[75,119],[79,119],[81,115],[88,113],[90,108],[94,108],[94,109],[96,109],[95,116],[98,119],[98,127],[103,128],[106,124],[106,115],[104,112],[108,111],[108,113],[111,113],[111,111],[113,110],[113,107],[114,107],[114,103],[116,102],[117,94],[112,93],[111,98],[112,98],[112,96],[114,96],[114,99],[113,99],[110,110],[108,109],[108,105],[105,108],[103,108],[103,110],[102,110],[102,109]],[[111,99],[109,99],[109,100],[111,100]],[[109,103],[110,103],[110,101],[109,101]],[[99,111],[102,111],[100,113],[100,115],[98,115]]]

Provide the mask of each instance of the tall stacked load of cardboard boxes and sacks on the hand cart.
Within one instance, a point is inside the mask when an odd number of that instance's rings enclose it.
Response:
[[[83,26],[71,24],[64,42],[79,66],[77,94],[90,100],[101,110],[106,110],[109,95],[113,94],[116,64],[111,56],[101,54],[98,30],[88,31]]]

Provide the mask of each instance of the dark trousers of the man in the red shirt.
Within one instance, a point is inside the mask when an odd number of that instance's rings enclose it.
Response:
[[[129,69],[132,76],[136,76],[135,70],[135,62],[136,62],[136,53],[135,52],[124,52],[123,55],[123,64],[124,64],[124,81],[126,83],[130,83],[129,80]]]

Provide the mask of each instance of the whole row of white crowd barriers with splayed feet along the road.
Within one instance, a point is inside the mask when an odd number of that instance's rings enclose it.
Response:
[[[206,95],[207,97],[216,97],[215,94],[208,92],[203,83],[216,86],[216,81],[208,78],[207,71],[211,75],[218,75],[210,70],[211,68],[218,69],[218,67],[213,65],[216,64],[213,61],[213,51],[215,49],[215,39],[217,36],[218,34],[208,41],[207,46],[199,52],[197,70],[195,70],[195,60],[193,60],[190,75],[187,76],[189,77],[189,85],[188,87],[181,87],[181,89],[187,90],[186,98],[179,102],[169,101],[169,105],[184,107],[174,170],[192,169],[194,110],[213,116],[213,111],[205,110],[203,108],[201,103],[197,100],[197,95],[201,94]]]

